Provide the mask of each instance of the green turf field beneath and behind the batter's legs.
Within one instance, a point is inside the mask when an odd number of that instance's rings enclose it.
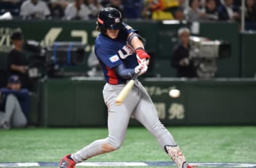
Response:
[[[256,163],[256,127],[169,127],[190,162]],[[0,130],[0,162],[58,162],[106,128]],[[91,162],[171,161],[145,128],[129,128],[121,149]],[[129,167],[131,168],[131,167]],[[162,167],[163,168],[163,167]]]

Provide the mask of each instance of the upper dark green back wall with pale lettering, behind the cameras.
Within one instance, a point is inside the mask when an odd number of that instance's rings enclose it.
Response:
[[[190,27],[190,24],[163,24],[159,21],[127,21],[130,26],[138,29],[146,39],[147,51],[155,57],[154,73],[151,76],[174,77],[175,69],[171,68],[170,56],[173,47],[178,42],[177,30],[181,27]],[[240,77],[240,38],[237,23],[200,23],[199,36],[211,39],[224,39],[232,45],[231,57],[218,60],[217,77]],[[0,69],[6,69],[6,55],[11,49],[10,36],[13,31],[21,30],[26,39],[33,39],[43,45],[54,41],[82,41],[87,44],[85,59],[77,66],[65,66],[64,69],[74,72],[87,71],[87,56],[93,49],[94,39],[98,31],[95,30],[95,21],[63,21],[63,20],[12,20],[0,21]],[[247,35],[250,36],[250,35]],[[254,35],[255,36],[255,35]],[[242,38],[243,46],[247,39]],[[250,40],[250,39],[249,39]],[[28,55],[31,53],[27,53]],[[242,52],[242,54],[248,54]],[[244,57],[244,55],[242,56]],[[245,56],[247,59],[247,56]]]

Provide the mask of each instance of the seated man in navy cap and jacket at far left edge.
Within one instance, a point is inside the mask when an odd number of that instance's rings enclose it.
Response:
[[[7,88],[0,89],[0,128],[22,128],[27,124],[28,90],[20,89],[18,75],[9,78]]]

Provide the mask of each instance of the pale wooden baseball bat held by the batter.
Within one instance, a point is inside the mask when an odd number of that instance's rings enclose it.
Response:
[[[135,81],[138,78],[140,71],[135,73],[132,77],[132,79],[124,86],[124,88],[120,91],[119,95],[116,97],[116,105],[121,105],[124,102],[124,99],[127,97],[129,94],[130,90],[134,86]]]

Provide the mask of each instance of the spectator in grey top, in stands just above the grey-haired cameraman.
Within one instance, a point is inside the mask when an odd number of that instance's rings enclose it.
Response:
[[[185,10],[186,20],[189,22],[201,21],[205,18],[205,13],[199,9],[198,0],[189,0],[189,8]]]

